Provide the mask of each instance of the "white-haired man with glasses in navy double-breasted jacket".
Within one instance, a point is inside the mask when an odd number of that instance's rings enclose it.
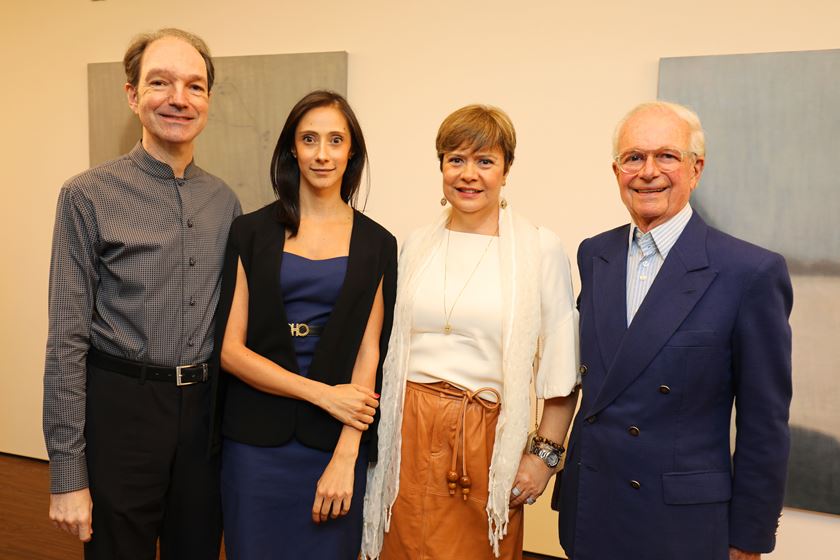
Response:
[[[760,558],[789,451],[785,261],[692,210],[705,149],[691,110],[636,107],[613,151],[632,224],[578,250],[583,399],[555,489],[561,543],[573,560]]]

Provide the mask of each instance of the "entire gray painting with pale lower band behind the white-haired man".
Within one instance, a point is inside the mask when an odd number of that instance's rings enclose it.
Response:
[[[785,501],[840,513],[840,50],[662,59],[659,98],[692,107],[706,130],[692,205],[714,227],[788,261]]]

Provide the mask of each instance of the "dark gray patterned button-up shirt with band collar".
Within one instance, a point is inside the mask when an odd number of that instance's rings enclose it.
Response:
[[[233,191],[193,163],[183,178],[138,142],[61,189],[53,235],[44,437],[50,491],[88,485],[86,356],[90,346],[174,366],[204,362]]]

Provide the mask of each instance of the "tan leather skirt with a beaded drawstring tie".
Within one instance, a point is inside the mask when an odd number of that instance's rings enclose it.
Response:
[[[382,560],[495,559],[485,507],[500,399],[482,399],[489,391],[408,382],[400,488]],[[522,508],[509,519],[500,557],[519,560]]]

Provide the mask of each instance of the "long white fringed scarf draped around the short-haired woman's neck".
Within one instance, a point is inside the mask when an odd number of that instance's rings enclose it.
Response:
[[[403,401],[418,279],[443,239],[450,211],[411,235],[400,255],[394,326],[385,358],[380,399],[379,460],[368,470],[362,557],[375,559],[389,529],[399,492]],[[502,407],[490,463],[488,536],[499,556],[507,533],[508,500],[528,438],[530,381],[540,332],[540,239],[537,228],[510,207],[499,216],[502,286]]]

